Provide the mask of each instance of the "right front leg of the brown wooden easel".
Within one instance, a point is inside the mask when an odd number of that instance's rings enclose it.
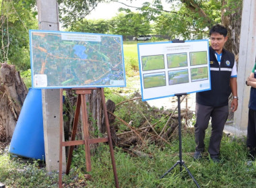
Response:
[[[118,178],[117,178],[117,167],[116,167],[116,162],[115,162],[115,155],[114,155],[114,150],[113,150],[112,138],[111,138],[111,134],[110,134],[110,126],[109,126],[109,122],[108,122],[108,113],[107,113],[107,109],[106,109],[104,88],[101,88],[101,97],[102,97],[102,106],[103,106],[103,111],[104,111],[104,116],[105,116],[106,130],[107,130],[107,133],[108,133],[108,146],[109,146],[109,150],[110,150],[113,173],[114,173],[114,177],[115,177],[115,185],[116,185],[116,187],[119,187],[119,181],[118,181]]]

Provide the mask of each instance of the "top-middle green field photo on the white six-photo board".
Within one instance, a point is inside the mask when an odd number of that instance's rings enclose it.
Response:
[[[168,68],[187,66],[187,53],[167,54]]]

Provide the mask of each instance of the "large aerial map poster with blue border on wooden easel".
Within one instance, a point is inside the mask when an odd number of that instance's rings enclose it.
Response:
[[[122,36],[30,30],[32,87],[125,87]]]

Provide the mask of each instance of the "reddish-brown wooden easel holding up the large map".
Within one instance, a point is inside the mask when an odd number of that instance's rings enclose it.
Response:
[[[101,97],[102,97],[102,107],[104,111],[104,119],[106,124],[106,131],[108,136],[106,138],[89,138],[89,125],[88,125],[88,113],[86,111],[86,94],[92,93],[92,90],[100,90],[101,91]],[[108,142],[109,148],[110,148],[110,157],[113,167],[113,173],[115,177],[115,185],[116,187],[119,187],[119,182],[117,179],[117,168],[115,164],[115,156],[114,156],[114,150],[113,150],[113,144],[111,140],[110,135],[110,126],[108,123],[108,113],[106,109],[106,102],[105,102],[105,96],[104,96],[104,89],[103,88],[82,88],[82,89],[73,89],[75,90],[75,93],[77,93],[77,103],[76,103],[76,109],[75,109],[75,117],[73,120],[73,129],[71,134],[71,141],[65,142],[63,141],[63,89],[60,89],[60,126],[59,126],[59,187],[62,187],[62,148],[63,146],[70,146],[69,148],[69,154],[67,157],[67,169],[66,174],[69,174],[70,165],[71,165],[71,159],[72,159],[72,153],[73,148],[76,145],[82,145],[85,146],[86,151],[86,170],[88,172],[92,171],[91,166],[91,155],[90,155],[90,144],[95,144],[99,142]],[[80,108],[82,107],[82,124],[83,124],[83,131],[84,131],[84,140],[75,140],[75,134],[77,131],[77,124],[79,120],[79,112]]]

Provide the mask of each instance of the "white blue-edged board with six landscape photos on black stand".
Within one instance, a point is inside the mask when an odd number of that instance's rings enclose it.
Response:
[[[208,40],[137,44],[142,101],[211,89]]]

